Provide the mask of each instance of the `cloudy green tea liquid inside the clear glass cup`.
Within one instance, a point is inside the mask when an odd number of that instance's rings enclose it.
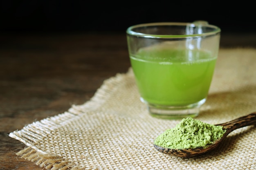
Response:
[[[205,51],[161,46],[130,56],[141,97],[165,106],[186,106],[206,98],[216,58]]]

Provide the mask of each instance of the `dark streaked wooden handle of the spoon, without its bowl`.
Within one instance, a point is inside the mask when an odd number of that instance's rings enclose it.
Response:
[[[256,112],[251,113],[246,116],[238,117],[237,119],[228,121],[223,124],[218,124],[219,126],[223,126],[228,132],[236,130],[238,128],[242,128],[245,126],[250,126],[256,124]]]

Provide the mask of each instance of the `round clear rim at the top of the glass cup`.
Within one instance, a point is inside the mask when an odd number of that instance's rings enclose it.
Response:
[[[207,24],[205,24],[207,23]],[[200,33],[200,34],[181,34],[181,35],[159,35],[159,34],[146,34],[146,33],[139,33],[136,31],[132,31],[132,29],[139,28],[139,27],[145,27],[145,26],[205,26],[209,28],[215,29],[214,31],[210,31],[207,33]],[[203,36],[209,36],[209,35],[215,35],[217,33],[220,33],[220,28],[215,25],[208,24],[208,22],[203,22],[202,24],[196,23],[196,22],[152,22],[152,23],[144,23],[144,24],[136,24],[133,26],[128,27],[126,30],[126,33],[128,35],[137,36],[137,37],[143,37],[143,38],[189,38],[189,37],[203,37]]]

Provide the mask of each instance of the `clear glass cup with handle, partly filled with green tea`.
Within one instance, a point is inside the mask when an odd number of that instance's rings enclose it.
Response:
[[[141,101],[154,117],[196,117],[218,57],[220,28],[206,21],[130,26],[128,52]]]

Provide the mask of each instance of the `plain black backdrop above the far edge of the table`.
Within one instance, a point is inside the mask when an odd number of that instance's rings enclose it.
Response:
[[[1,0],[0,31],[124,33],[146,22],[207,20],[222,33],[256,32],[253,1],[231,2]]]

